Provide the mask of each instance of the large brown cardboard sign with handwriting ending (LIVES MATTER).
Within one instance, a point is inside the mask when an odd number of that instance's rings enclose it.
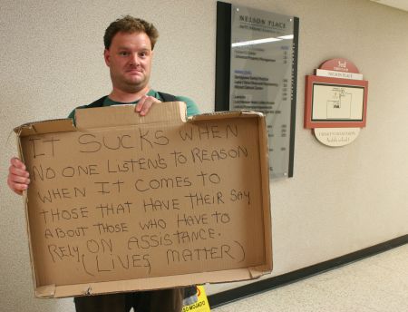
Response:
[[[257,278],[272,269],[262,114],[185,104],[16,129],[38,297]]]

